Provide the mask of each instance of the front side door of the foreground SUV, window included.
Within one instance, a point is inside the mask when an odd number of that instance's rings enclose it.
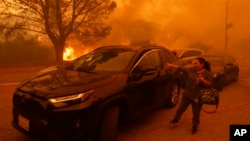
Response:
[[[162,68],[158,50],[148,51],[137,60],[127,84],[130,111],[140,113],[154,107]]]

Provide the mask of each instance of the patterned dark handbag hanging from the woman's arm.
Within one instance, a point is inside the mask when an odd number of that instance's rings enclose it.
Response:
[[[219,106],[219,97],[220,93],[218,90],[214,88],[203,88],[198,93],[198,100],[201,104],[208,104],[208,105],[215,105],[216,109],[213,112],[205,112],[207,113],[214,113],[216,112],[218,106]]]

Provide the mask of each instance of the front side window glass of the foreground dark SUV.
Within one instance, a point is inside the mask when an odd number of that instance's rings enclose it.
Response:
[[[161,59],[158,51],[149,51],[145,53],[136,64],[136,67],[154,66],[155,68],[161,67]]]

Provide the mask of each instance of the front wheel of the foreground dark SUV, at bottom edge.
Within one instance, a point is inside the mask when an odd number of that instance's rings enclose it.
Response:
[[[101,119],[98,141],[115,141],[120,108],[112,106],[105,110]]]

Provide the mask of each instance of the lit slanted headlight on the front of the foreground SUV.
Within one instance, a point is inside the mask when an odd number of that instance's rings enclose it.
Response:
[[[62,108],[68,105],[77,104],[83,102],[88,99],[88,97],[94,92],[94,90],[90,90],[84,93],[63,96],[63,97],[56,97],[49,99],[49,102],[56,108]]]

